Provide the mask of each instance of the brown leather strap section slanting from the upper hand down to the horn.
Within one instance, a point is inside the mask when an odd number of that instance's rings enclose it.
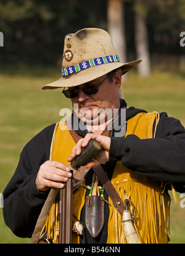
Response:
[[[110,196],[113,202],[113,205],[118,210],[118,212],[122,215],[123,211],[125,210],[125,205],[121,200],[120,196],[118,195],[117,191],[113,187],[112,183],[110,182],[109,177],[107,177],[107,174],[105,174],[104,169],[102,168],[102,166],[97,166],[97,167],[94,167],[93,170],[96,173],[98,179],[101,181],[105,190],[107,191],[107,194]]]

